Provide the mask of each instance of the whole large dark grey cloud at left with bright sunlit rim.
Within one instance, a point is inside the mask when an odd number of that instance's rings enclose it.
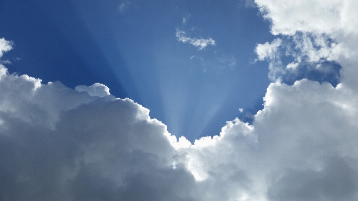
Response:
[[[132,100],[15,75],[2,75],[0,90],[2,200],[193,196],[192,174],[171,166],[166,126]]]

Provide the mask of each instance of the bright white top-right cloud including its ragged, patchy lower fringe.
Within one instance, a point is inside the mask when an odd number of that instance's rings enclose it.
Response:
[[[270,79],[294,76],[301,70],[325,76],[336,74],[339,82],[351,86],[358,84],[356,77],[358,21],[352,13],[358,7],[356,1],[256,1],[263,17],[270,21],[271,33],[281,35],[280,45],[272,41],[270,55],[285,54],[294,61],[282,66],[279,58],[265,55],[268,44],[257,45],[259,59],[270,62]],[[332,72],[327,62],[343,67]],[[323,66],[322,66],[323,64]],[[309,68],[307,68],[309,66]],[[344,78],[344,80],[340,80]]]

